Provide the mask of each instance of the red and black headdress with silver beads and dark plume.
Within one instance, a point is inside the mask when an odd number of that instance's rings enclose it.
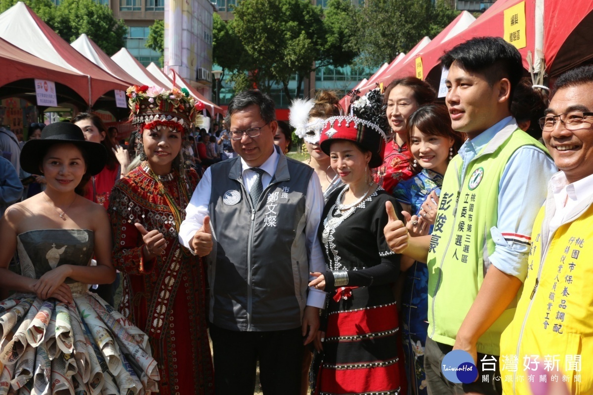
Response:
[[[371,152],[369,167],[380,166],[388,125],[382,101],[381,90],[374,89],[353,103],[353,115],[327,118],[321,131],[321,150],[329,155],[333,140],[350,140]]]

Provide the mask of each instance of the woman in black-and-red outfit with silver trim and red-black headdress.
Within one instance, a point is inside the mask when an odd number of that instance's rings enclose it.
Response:
[[[389,249],[383,233],[389,220],[385,204],[391,202],[396,212],[401,208],[371,174],[382,163],[386,139],[377,126],[381,103],[367,97],[362,102],[368,105],[355,108],[355,116],[330,117],[321,131],[321,149],[346,185],[324,208],[318,236],[327,271],[312,274],[317,278],[309,284],[328,294],[326,329],[315,340],[323,349],[316,394],[406,393],[391,291],[400,255]]]

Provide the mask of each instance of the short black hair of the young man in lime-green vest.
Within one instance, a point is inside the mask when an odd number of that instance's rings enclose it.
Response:
[[[502,37],[471,38],[445,52],[439,60],[447,69],[458,62],[467,71],[482,74],[490,86],[507,78],[511,82],[509,105],[523,75],[521,53]]]

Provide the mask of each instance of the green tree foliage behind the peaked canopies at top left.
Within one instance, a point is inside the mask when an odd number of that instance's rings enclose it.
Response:
[[[18,1],[0,0],[0,12],[6,11]],[[93,0],[63,0],[58,7],[51,0],[24,2],[69,43],[85,33],[109,56],[125,45],[126,25],[122,20],[116,20],[106,5]]]

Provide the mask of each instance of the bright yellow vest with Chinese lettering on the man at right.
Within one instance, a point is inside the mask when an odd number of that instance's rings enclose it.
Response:
[[[534,369],[538,361],[545,368],[546,360],[571,394],[593,394],[593,196],[551,234],[546,207],[554,197],[548,196],[535,219],[515,317],[500,338],[504,395],[531,395],[529,376],[535,373],[525,365]]]

